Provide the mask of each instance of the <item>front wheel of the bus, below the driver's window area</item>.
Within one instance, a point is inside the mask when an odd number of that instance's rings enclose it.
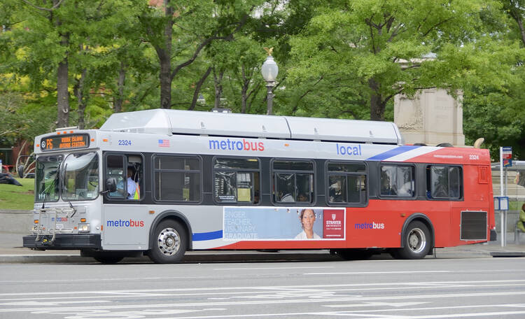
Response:
[[[188,239],[184,227],[174,220],[163,220],[155,227],[153,248],[149,257],[158,264],[180,262],[186,253]]]

